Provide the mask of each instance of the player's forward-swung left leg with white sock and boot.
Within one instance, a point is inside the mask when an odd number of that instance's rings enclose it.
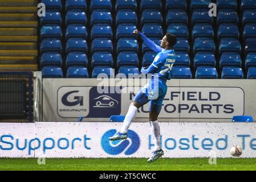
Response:
[[[149,100],[148,100],[147,94],[141,91],[137,93],[135,98],[133,99],[132,104],[129,106],[127,114],[125,115],[121,130],[115,135],[113,135],[113,137],[109,137],[108,139],[109,140],[127,139],[128,138],[127,131],[131,126],[133,119],[135,118],[137,110],[144,104],[147,104],[148,101]]]

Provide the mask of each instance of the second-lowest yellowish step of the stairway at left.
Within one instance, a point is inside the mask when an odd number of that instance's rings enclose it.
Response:
[[[0,64],[36,64],[34,56],[0,56]]]

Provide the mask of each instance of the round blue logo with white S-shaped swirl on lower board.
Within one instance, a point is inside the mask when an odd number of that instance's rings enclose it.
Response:
[[[134,154],[140,147],[140,138],[135,131],[128,130],[127,140],[109,141],[109,137],[115,135],[116,130],[108,130],[101,138],[101,146],[105,152],[110,155],[121,154],[124,151],[125,155]]]

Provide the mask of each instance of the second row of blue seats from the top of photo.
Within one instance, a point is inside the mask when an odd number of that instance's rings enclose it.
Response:
[[[242,24],[255,23],[256,10],[246,10],[242,15]],[[172,23],[184,23],[188,24],[188,15],[186,11],[179,9],[170,9],[164,17],[167,26]],[[59,11],[47,11],[46,16],[40,18],[40,25],[54,23],[62,26],[62,14]],[[156,23],[162,25],[163,17],[161,11],[158,10],[145,10],[141,14],[140,24]],[[208,9],[198,9],[192,14],[192,26],[196,23],[207,23],[213,25],[213,17],[209,16]],[[80,23],[86,25],[88,23],[87,14],[83,10],[69,10],[65,16],[65,24]],[[113,18],[111,11],[106,10],[94,10],[91,14],[90,24],[94,26],[97,23],[113,24]],[[135,11],[119,11],[116,14],[116,26],[121,23],[133,23],[137,24],[137,14]],[[232,23],[238,25],[239,17],[235,10],[223,9],[218,11],[217,14],[217,26],[221,23]]]

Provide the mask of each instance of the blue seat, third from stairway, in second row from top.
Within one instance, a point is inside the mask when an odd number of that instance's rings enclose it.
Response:
[[[110,11],[106,10],[94,10],[91,15],[91,26],[94,24],[108,24],[109,26],[113,23],[113,18]]]

